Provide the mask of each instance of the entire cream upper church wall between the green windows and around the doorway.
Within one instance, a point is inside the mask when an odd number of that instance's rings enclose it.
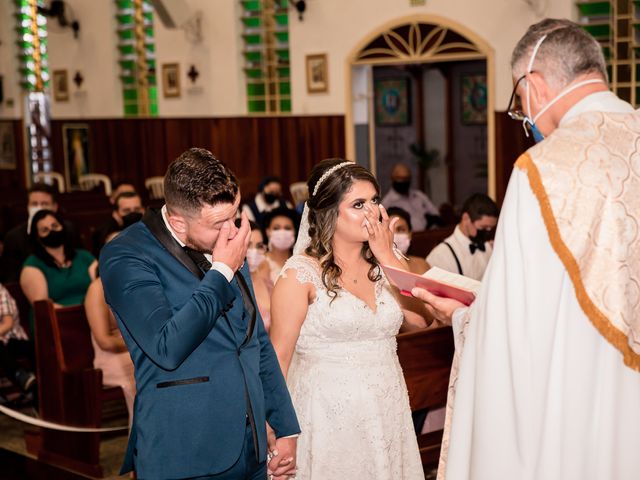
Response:
[[[81,24],[80,39],[70,31],[52,28],[49,39],[50,70],[67,70],[68,102],[52,101],[54,118],[117,118],[123,116],[122,88],[116,48],[115,2],[113,0],[66,0]],[[236,0],[185,0],[189,8],[202,12],[202,44],[190,43],[180,29],[165,28],[155,15],[160,116],[245,115],[245,78],[242,71],[242,38],[239,2]],[[541,4],[545,0],[540,0]],[[574,15],[572,0],[546,1],[545,16]],[[22,92],[18,85],[15,57],[14,4],[0,4],[0,75],[5,99],[0,118],[19,118]],[[539,17],[524,0],[427,0],[411,7],[410,0],[307,0],[304,20],[290,12],[290,57],[293,114],[344,114],[348,55],[367,35],[381,25],[402,17],[432,14],[449,18],[483,38],[495,50],[496,95],[494,107],[506,108],[511,92],[509,57],[527,26]],[[306,91],[305,56],[327,53],[328,93]],[[180,98],[162,95],[163,63],[179,63]],[[186,73],[195,65],[200,73],[195,84]],[[81,88],[71,81],[76,71],[84,77]]]

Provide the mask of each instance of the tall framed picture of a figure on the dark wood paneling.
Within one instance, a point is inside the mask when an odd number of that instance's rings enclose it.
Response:
[[[64,176],[69,190],[79,190],[80,175],[91,172],[89,157],[89,125],[65,123],[62,125],[64,149]]]

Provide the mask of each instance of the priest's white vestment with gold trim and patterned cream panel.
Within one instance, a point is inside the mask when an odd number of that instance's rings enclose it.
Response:
[[[592,94],[516,164],[454,314],[439,479],[640,478],[639,238],[640,118]]]

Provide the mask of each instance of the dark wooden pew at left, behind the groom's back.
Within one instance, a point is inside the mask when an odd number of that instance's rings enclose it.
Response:
[[[55,309],[50,300],[34,304],[38,397],[43,420],[99,428],[105,401],[122,398],[120,387],[103,388],[93,368],[93,346],[84,307]],[[126,421],[126,420],[125,420]],[[29,453],[46,463],[102,477],[100,434],[41,429],[27,439]],[[34,451],[35,450],[35,451]]]

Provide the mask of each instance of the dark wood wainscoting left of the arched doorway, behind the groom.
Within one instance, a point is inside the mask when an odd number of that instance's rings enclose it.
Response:
[[[54,120],[54,170],[64,172],[62,129],[85,123],[90,130],[92,170],[112,181],[164,175],[169,163],[190,147],[211,150],[255,191],[265,175],[285,184],[306,180],[311,167],[327,157],[344,156],[344,117],[287,116]]]

